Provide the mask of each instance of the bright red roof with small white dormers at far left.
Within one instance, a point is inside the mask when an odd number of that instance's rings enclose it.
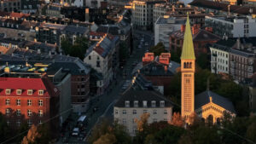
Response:
[[[0,95],[7,95],[6,89],[11,89],[12,96],[57,96],[59,90],[49,82],[49,78],[0,78]],[[21,89],[21,95],[17,95],[17,89]],[[27,95],[28,89],[32,89],[32,95]],[[38,95],[39,90],[44,90],[44,95]]]

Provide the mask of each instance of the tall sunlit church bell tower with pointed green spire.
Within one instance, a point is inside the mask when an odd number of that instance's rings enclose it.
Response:
[[[191,112],[195,111],[195,52],[189,24],[189,14],[183,38],[181,59],[182,73],[182,117],[188,121]]]

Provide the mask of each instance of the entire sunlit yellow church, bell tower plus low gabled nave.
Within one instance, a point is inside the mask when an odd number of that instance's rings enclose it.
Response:
[[[183,52],[181,55],[182,72],[182,107],[181,113],[185,121],[189,123],[192,112],[208,122],[216,123],[223,117],[224,112],[235,117],[236,111],[232,102],[223,96],[217,95],[210,90],[195,96],[195,52],[192,34],[189,24],[189,16],[183,41]]]

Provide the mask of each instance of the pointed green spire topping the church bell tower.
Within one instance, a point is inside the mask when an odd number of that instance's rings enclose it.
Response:
[[[190,24],[189,24],[189,14],[187,17],[186,29],[185,29],[184,40],[183,40],[183,52],[180,59],[195,60],[193,38],[192,38]]]

